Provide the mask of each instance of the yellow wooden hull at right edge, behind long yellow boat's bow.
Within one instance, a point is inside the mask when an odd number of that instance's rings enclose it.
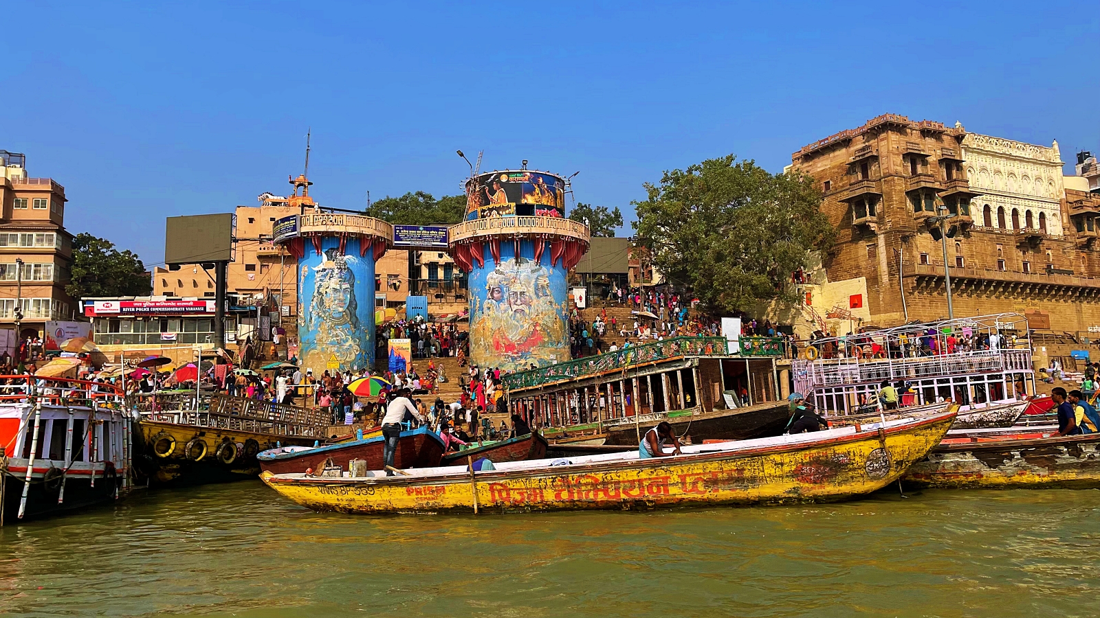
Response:
[[[936,446],[913,464],[905,486],[949,488],[1100,487],[1100,434],[974,437]],[[980,440],[980,441],[977,441]]]

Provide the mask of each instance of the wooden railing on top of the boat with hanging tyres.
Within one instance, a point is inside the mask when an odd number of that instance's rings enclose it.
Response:
[[[200,406],[198,410],[190,409],[186,405],[188,402],[186,398],[179,399],[183,405],[176,409],[165,409],[164,407],[153,409],[147,402],[148,398],[144,399],[146,404],[144,406],[138,404],[138,409],[142,412],[142,418],[146,420],[211,429],[324,438],[324,430],[330,421],[329,416],[320,410],[220,394],[205,397],[205,405]],[[135,400],[140,401],[141,398],[135,398]],[[194,394],[191,394],[190,400],[194,401]],[[157,404],[158,406],[170,404],[170,399],[163,398]]]

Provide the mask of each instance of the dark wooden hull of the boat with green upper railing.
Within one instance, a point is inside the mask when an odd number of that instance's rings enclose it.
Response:
[[[790,408],[785,402],[776,402],[765,408],[714,410],[701,412],[697,416],[684,416],[668,419],[678,435],[691,437],[695,444],[704,440],[751,440],[780,435],[787,430],[791,419]],[[659,421],[658,421],[659,422]],[[604,444],[613,446],[638,445],[638,433],[645,433],[657,422],[617,426],[607,429]]]

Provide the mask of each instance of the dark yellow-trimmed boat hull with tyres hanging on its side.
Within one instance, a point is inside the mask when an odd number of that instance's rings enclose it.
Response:
[[[166,444],[174,441],[170,453]],[[195,441],[206,445],[206,454],[196,460],[184,452]],[[275,435],[252,431],[213,429],[191,424],[142,420],[134,431],[134,470],[138,483],[146,481],[151,487],[188,487],[211,483],[231,483],[255,478],[260,474],[256,454],[283,445],[307,446],[316,439],[294,435]],[[229,463],[218,456],[223,442],[237,445],[237,456]],[[160,449],[160,453],[157,452]]]

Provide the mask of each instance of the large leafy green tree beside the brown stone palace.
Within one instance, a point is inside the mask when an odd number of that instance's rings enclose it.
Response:
[[[653,266],[692,287],[705,308],[747,309],[783,295],[807,253],[834,239],[821,192],[801,173],[769,174],[734,155],[666,172],[635,201]]]

